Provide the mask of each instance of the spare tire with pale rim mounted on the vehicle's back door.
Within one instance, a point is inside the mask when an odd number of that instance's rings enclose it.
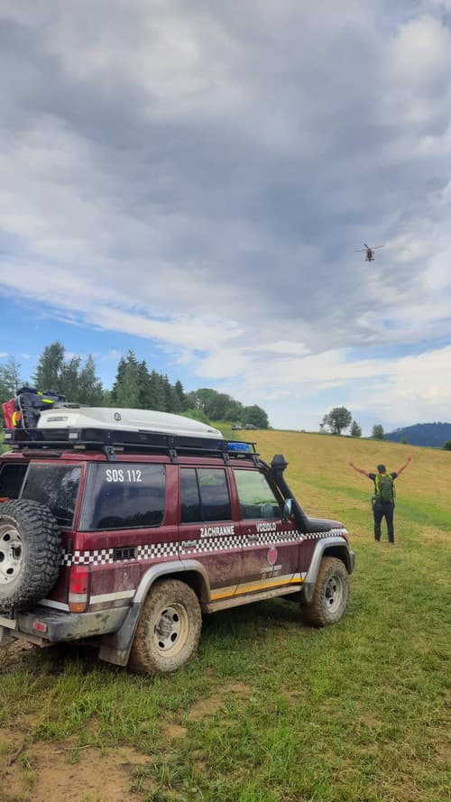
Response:
[[[49,593],[62,558],[60,530],[44,504],[0,504],[0,607],[26,607]]]

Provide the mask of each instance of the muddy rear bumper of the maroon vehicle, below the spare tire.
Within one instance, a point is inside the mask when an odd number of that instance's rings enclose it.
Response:
[[[105,635],[119,629],[128,609],[119,607],[96,613],[60,613],[48,607],[37,607],[32,613],[17,612],[14,618],[0,615],[0,644],[10,642],[11,638],[23,638],[44,646]]]

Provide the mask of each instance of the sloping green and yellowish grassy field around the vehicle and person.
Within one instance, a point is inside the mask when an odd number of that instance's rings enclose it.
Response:
[[[244,433],[243,433],[244,434]],[[334,627],[281,600],[208,617],[198,658],[137,678],[72,650],[0,652],[2,802],[444,802],[450,798],[447,593],[451,453],[248,432],[289,462],[310,514],[351,533]],[[396,545],[373,541],[371,483],[396,470]]]

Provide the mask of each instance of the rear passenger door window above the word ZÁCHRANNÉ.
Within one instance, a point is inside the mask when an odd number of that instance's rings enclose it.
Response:
[[[222,468],[181,468],[180,496],[182,523],[232,518],[226,471]]]

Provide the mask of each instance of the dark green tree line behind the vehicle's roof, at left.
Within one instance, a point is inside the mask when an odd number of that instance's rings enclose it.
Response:
[[[122,356],[115,382],[106,389],[96,373],[92,355],[85,362],[80,356],[68,356],[60,342],[46,346],[32,374],[32,386],[65,395],[68,401],[94,407],[120,407],[158,410],[187,415],[198,420],[234,421],[268,429],[268,415],[257,404],[244,406],[225,392],[203,387],[185,392],[182,383],[174,384],[166,374],[151,370],[133,351]],[[21,365],[14,357],[0,364],[0,403],[12,398],[25,382]]]

